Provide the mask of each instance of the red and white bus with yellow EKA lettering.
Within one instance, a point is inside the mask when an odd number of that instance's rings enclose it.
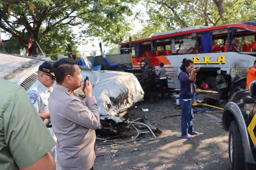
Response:
[[[132,68],[163,62],[169,88],[180,88],[178,74],[183,58],[196,67],[197,87],[230,92],[245,89],[246,75],[256,60],[256,20],[216,27],[195,26],[155,33],[151,37],[121,43],[120,54],[132,52]],[[143,61],[143,62],[142,62]],[[207,87],[207,86],[208,87]]]

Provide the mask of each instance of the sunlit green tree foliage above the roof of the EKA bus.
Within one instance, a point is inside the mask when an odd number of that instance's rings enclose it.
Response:
[[[256,19],[255,0],[145,0],[145,4],[150,19],[133,40],[165,30]]]

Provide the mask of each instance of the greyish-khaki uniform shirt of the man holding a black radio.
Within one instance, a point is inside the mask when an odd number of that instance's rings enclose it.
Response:
[[[83,103],[74,92],[56,85],[49,98],[49,110],[60,165],[73,170],[91,169],[95,130],[101,126],[94,96]]]

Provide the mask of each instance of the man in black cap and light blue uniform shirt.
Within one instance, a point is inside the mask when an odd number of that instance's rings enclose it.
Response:
[[[27,95],[38,114],[43,118],[50,118],[48,99],[55,81],[53,64],[44,62],[39,66],[38,71],[38,80],[29,88]]]

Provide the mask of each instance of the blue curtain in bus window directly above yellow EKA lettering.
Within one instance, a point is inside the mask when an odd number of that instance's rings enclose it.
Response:
[[[212,33],[202,33],[201,34],[201,48],[202,53],[212,52]]]

